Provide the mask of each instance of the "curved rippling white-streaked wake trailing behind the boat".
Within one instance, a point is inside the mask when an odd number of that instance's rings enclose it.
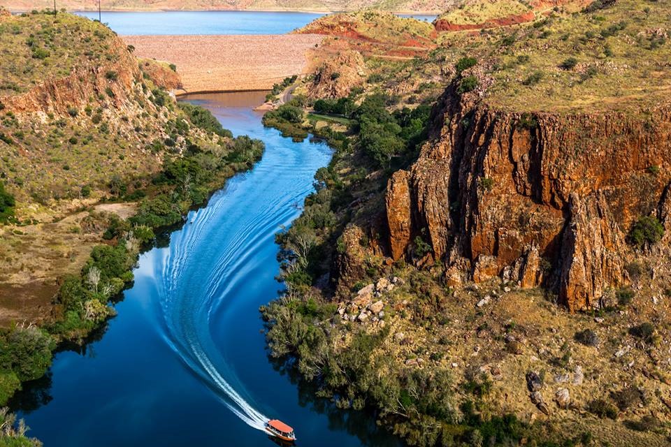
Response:
[[[224,405],[258,430],[268,417],[217,349],[211,318],[227,300],[240,299],[231,290],[253,281],[245,277],[247,265],[261,247],[273,244],[278,228],[298,215],[294,204],[312,191],[312,175],[326,156],[303,153],[308,150],[315,148],[287,142],[268,147],[251,173],[234,177],[207,207],[189,214],[155,265],[166,343]]]

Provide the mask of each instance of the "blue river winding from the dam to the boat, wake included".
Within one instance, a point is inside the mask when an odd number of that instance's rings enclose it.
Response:
[[[292,425],[298,446],[396,446],[361,412],[314,400],[264,349],[258,308],[281,284],[274,234],[300,213],[331,152],[264,129],[263,92],[208,94],[236,135],[266,142],[248,173],[189,214],[167,247],[140,258],[118,316],[84,352],[58,353],[50,376],[20,396],[20,416],[47,447],[273,446],[266,418]]]

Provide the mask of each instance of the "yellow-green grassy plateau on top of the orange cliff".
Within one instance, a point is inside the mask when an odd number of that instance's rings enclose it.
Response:
[[[669,7],[668,0],[621,0],[479,37],[446,33],[440,57],[477,57],[493,78],[487,101],[499,108],[640,110],[668,98]],[[570,58],[575,66],[563,66]]]

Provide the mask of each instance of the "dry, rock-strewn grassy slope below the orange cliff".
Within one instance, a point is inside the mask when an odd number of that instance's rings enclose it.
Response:
[[[659,270],[663,271],[666,263],[660,265]],[[477,290],[467,287],[446,293],[426,273],[406,270],[407,273],[414,279],[406,276],[404,286],[380,298],[387,306],[386,325],[390,328],[380,349],[384,354],[393,353],[400,369],[407,367],[404,365],[449,369],[454,378],[452,392],[458,402],[474,399],[463,388],[467,372],[483,372],[492,382],[484,405],[479,407],[485,413],[514,413],[528,423],[540,421],[542,425],[563,427],[560,432],[566,436],[592,432],[595,439],[607,441],[610,446],[668,445],[671,410],[663,399],[668,400],[671,393],[671,365],[666,358],[671,328],[665,323],[671,312],[671,299],[659,298],[670,280],[668,274],[657,277],[653,285],[648,281],[628,307],[621,312],[606,312],[601,316],[603,321],[598,322],[595,316],[569,314],[541,291],[513,287],[506,292],[495,281],[480,284]],[[424,284],[424,293],[410,286],[419,281]],[[489,304],[477,307],[476,303],[486,295],[491,296]],[[658,296],[657,304],[651,295]],[[439,304],[431,305],[436,297],[440,297]],[[630,335],[629,329],[646,321],[654,322],[656,335],[654,342],[644,344]],[[369,326],[373,330],[375,324]],[[575,340],[576,332],[588,328],[598,335],[600,342],[596,347]],[[402,336],[396,335],[401,333]],[[517,350],[510,349],[512,342],[506,341],[507,337],[514,337]],[[625,353],[616,356],[623,348]],[[582,383],[573,381],[576,367],[582,368]],[[526,373],[530,371],[538,372],[544,381],[541,394],[549,416],[530,400],[526,387]],[[619,411],[616,420],[599,419],[586,411],[591,400],[613,403],[610,393],[628,387],[641,390],[644,400]],[[569,409],[560,409],[554,402],[559,388],[569,390]],[[636,432],[627,427],[626,421],[637,421],[646,415],[661,420],[661,430]]]

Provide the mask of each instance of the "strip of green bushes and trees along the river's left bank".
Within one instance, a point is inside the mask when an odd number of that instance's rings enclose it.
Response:
[[[187,103],[179,107],[194,129],[222,138],[210,145],[187,142],[182,154],[173,154],[169,145],[161,145],[163,168],[145,187],[113,179],[118,200],[140,198],[136,214],[129,219],[92,215],[91,225],[106,226],[103,237],[108,243],[92,249],[80,274],[62,279],[55,298],[55,318],[43,328],[14,325],[0,332],[0,404],[23,381],[45,374],[58,342],[82,341],[115,315],[110,301],[133,281],[138,254],[151,246],[155,233],[181,223],[189,210],[203,205],[226,179],[261,158],[263,142],[245,136],[231,138],[208,110]]]

